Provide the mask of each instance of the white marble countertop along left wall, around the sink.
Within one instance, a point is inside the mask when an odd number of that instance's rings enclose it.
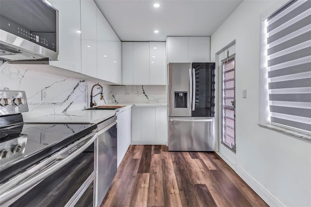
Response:
[[[94,110],[73,110],[64,113],[51,114],[41,117],[25,119],[26,123],[100,123],[122,111],[131,108],[126,105],[120,109],[94,109]]]

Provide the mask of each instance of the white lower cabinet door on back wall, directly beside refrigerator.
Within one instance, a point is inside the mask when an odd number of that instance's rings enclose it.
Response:
[[[167,107],[155,107],[155,129],[157,142],[167,141]]]

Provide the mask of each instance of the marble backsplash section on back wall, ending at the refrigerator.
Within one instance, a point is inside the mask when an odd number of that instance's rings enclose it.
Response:
[[[166,104],[166,86],[112,86],[115,103]]]

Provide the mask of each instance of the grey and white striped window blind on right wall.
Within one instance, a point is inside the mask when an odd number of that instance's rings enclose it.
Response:
[[[311,132],[311,0],[266,20],[271,122]]]

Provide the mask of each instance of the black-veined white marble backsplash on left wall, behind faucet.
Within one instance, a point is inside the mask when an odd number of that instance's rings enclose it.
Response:
[[[29,112],[24,118],[32,118],[82,109],[89,106],[91,87],[96,82],[71,78],[37,70],[25,69],[18,65],[0,62],[0,90],[26,91]],[[100,95],[93,98],[98,105],[113,104],[112,87],[103,85],[104,100]],[[100,92],[95,87],[93,94]],[[111,97],[111,98],[110,98]]]

